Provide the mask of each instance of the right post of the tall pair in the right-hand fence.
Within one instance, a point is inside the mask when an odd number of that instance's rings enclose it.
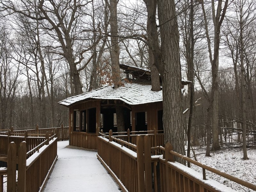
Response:
[[[144,167],[146,192],[152,192],[151,145],[148,135],[144,137]]]

